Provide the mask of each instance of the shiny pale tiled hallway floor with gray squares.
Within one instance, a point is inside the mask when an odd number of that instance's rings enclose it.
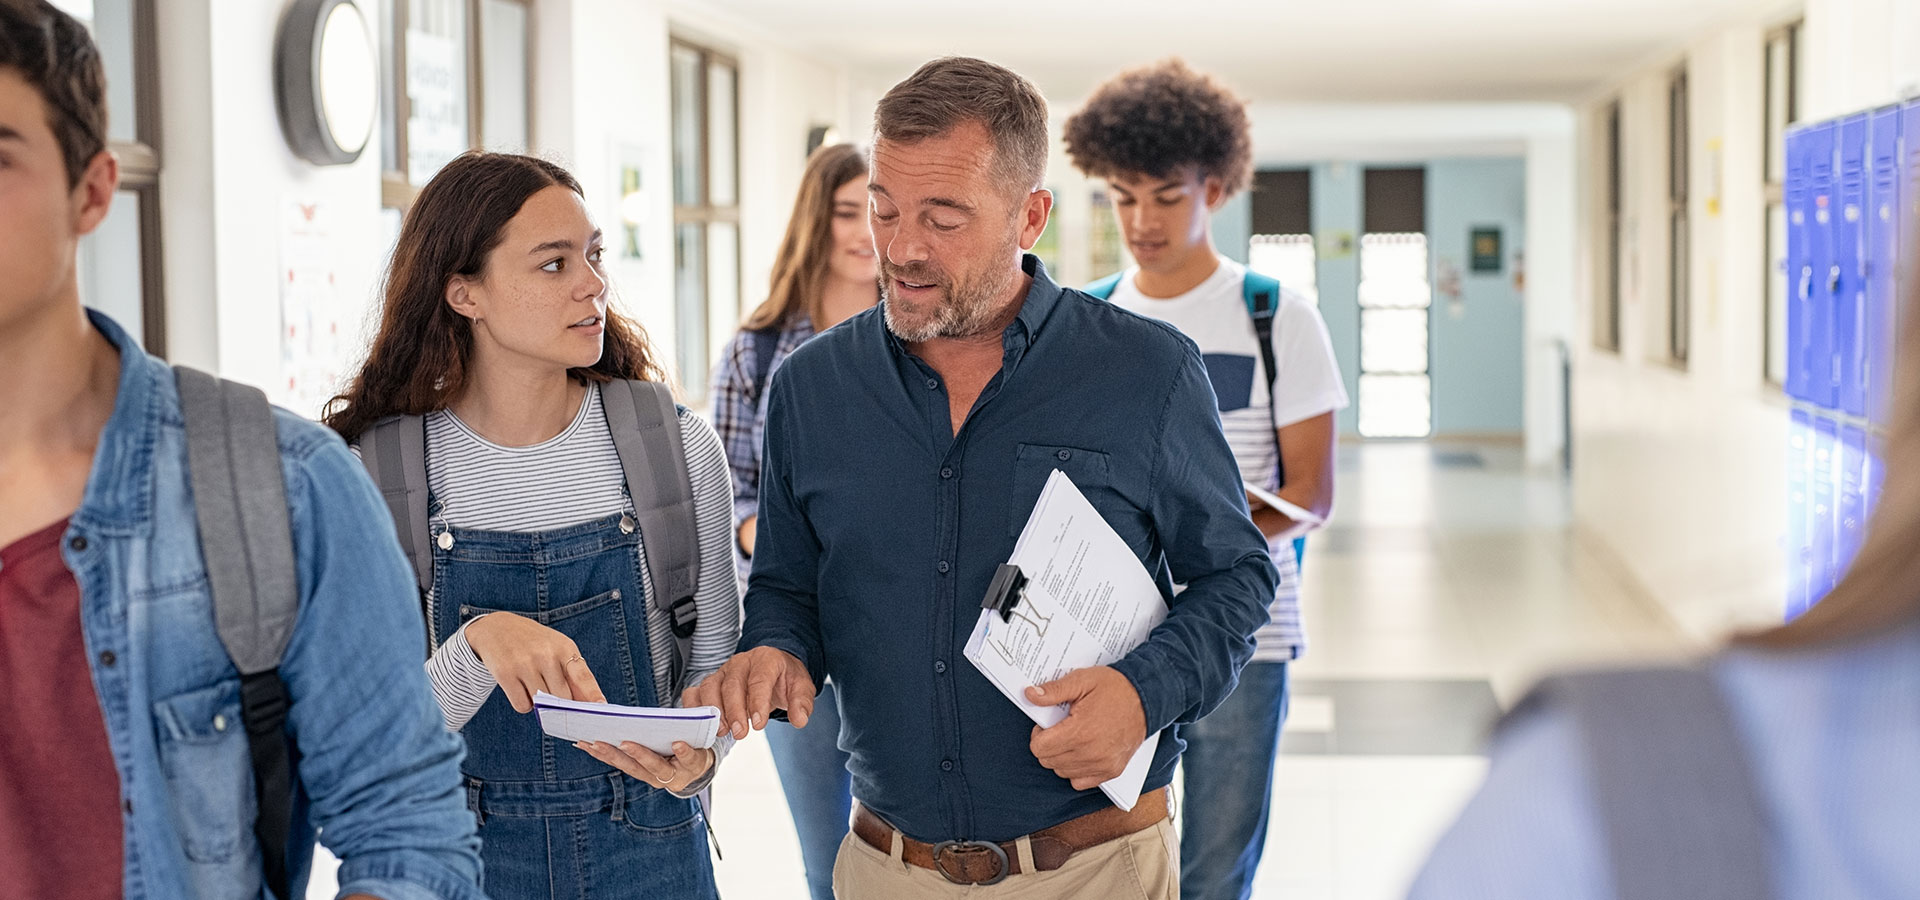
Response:
[[[1544,668],[1680,649],[1567,528],[1561,478],[1523,470],[1517,447],[1344,447],[1338,497],[1309,539],[1311,649],[1256,898],[1400,896],[1478,785],[1496,704]],[[716,804],[722,892],[803,900],[766,741],[733,752]]]

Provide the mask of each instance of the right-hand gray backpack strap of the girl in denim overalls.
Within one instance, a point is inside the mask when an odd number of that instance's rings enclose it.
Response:
[[[680,434],[674,393],[659,382],[601,384],[607,430],[620,453],[626,491],[639,520],[647,572],[653,576],[653,603],[674,622],[672,697],[680,695],[693,654],[699,608],[699,532],[693,524],[693,482],[687,478],[687,447]],[[662,704],[672,699],[662,697]]]

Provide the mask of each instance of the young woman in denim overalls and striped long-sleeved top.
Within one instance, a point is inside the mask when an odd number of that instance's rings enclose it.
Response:
[[[662,687],[678,675],[674,643],[597,393],[624,391],[622,378],[662,374],[645,334],[609,307],[578,182],[541,159],[467,154],[415,200],[372,351],[326,416],[348,439],[424,416],[428,672],[467,739],[486,888],[501,900],[716,896],[695,794],[726,745],[568,746],[528,714],[538,691],[680,700]],[[739,637],[739,593],[726,457],[697,416],[682,411],[680,424],[701,549],[693,683]]]

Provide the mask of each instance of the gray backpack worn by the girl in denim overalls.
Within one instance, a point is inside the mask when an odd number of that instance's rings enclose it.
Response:
[[[680,409],[664,384],[605,382],[599,386],[607,430],[620,453],[626,489],[639,522],[647,574],[674,628],[672,693],[680,697],[691,656],[699,610],[699,535],[693,530],[693,484],[680,436]],[[422,416],[388,416],[359,436],[361,462],[386,497],[399,532],[399,547],[413,560],[424,597],[434,585],[434,547],[426,497],[426,422]],[[728,574],[732,578],[732,572]],[[428,624],[432,628],[432,624]]]

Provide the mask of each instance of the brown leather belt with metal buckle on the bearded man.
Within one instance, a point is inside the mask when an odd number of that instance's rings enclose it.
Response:
[[[1140,794],[1140,802],[1133,804],[1133,810],[1108,806],[1106,810],[1089,812],[1050,829],[1035,831],[1027,835],[1027,841],[1033,844],[1033,867],[1054,871],[1089,846],[1133,835],[1165,817],[1167,789],[1162,787],[1150,794]],[[866,846],[889,856],[893,854],[895,827],[864,804],[852,806],[852,833],[860,841],[866,841]],[[902,860],[922,869],[933,869],[954,885],[998,885],[1008,875],[1021,873],[1020,841],[1000,844],[987,841],[941,841],[925,844],[900,835],[900,844]]]

